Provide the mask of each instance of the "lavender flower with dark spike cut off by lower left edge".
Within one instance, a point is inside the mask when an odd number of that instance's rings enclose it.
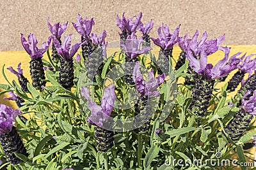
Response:
[[[13,127],[15,118],[20,113],[18,109],[13,110],[4,104],[0,104],[0,142],[6,155],[6,160],[11,164],[19,164],[22,161],[14,153],[22,153],[28,156],[16,128]]]

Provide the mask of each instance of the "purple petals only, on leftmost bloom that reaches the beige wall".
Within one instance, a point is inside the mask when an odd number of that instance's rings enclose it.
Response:
[[[47,48],[49,47],[51,43],[52,37],[50,36],[48,38],[48,41],[42,44],[42,48],[38,49],[37,48],[37,40],[34,34],[29,34],[28,36],[28,41],[26,38],[24,38],[24,35],[21,34],[21,43],[26,52],[30,55],[31,59],[36,59],[43,57],[43,54],[46,52]]]

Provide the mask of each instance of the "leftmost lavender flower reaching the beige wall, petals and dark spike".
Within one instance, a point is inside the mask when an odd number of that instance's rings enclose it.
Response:
[[[30,64],[30,74],[32,79],[32,85],[36,89],[40,89],[42,85],[45,86],[45,73],[44,66],[42,62],[43,54],[46,52],[49,44],[51,43],[51,37],[48,41],[42,44],[42,48],[37,48],[37,40],[34,34],[29,34],[28,41],[24,38],[24,35],[21,34],[21,43],[26,52],[30,55],[31,61]]]

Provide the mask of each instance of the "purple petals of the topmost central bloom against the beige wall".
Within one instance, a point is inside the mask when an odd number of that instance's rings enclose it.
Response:
[[[141,28],[141,26],[143,26],[141,22],[141,17],[141,12],[139,13],[138,17],[134,16],[129,19],[124,17],[124,13],[122,15],[122,18],[119,18],[118,15],[116,15],[116,25],[120,28],[121,31],[126,31],[131,34],[132,32],[136,32]],[[136,19],[134,20],[134,18]]]

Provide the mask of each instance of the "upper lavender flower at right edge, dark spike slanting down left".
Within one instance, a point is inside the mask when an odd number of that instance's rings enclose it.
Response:
[[[239,62],[241,61],[241,64],[238,64],[238,71],[236,72],[236,74],[234,74],[234,76],[232,76],[232,78],[228,81],[228,87],[227,89],[230,90],[230,92],[233,92],[234,90],[236,90],[236,87],[239,85],[240,82],[242,82],[243,78],[244,78],[244,74],[249,73],[249,78],[252,75],[252,71],[256,68],[255,67],[255,60],[251,60],[251,58],[253,57],[254,54],[252,55],[248,55],[246,57],[246,59],[244,59],[244,57],[246,56],[246,53],[244,53],[244,55],[241,57],[241,59],[239,60]],[[244,61],[243,61],[244,59]],[[238,61],[237,61],[238,62]],[[239,63],[238,62],[238,63]]]

